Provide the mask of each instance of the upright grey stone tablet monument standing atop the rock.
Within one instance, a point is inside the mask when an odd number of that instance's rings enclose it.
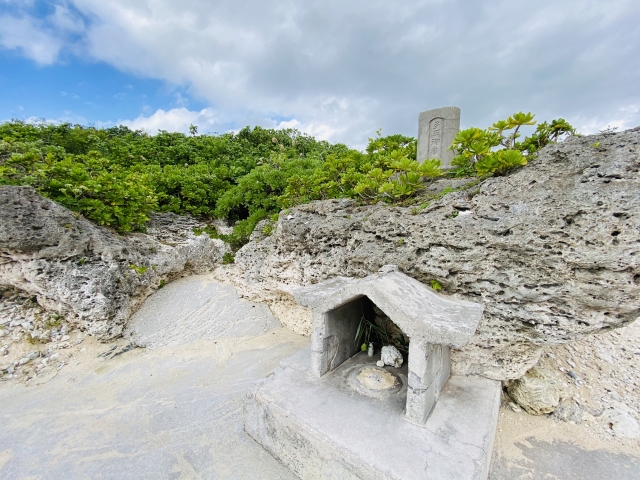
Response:
[[[422,112],[418,118],[418,162],[439,158],[442,168],[450,168],[455,156],[449,150],[460,131],[460,109],[442,107]]]

